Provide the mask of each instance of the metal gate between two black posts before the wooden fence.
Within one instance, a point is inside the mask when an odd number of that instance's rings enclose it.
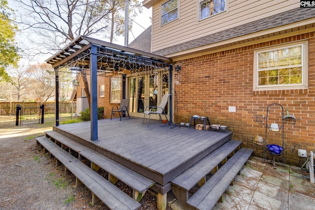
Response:
[[[22,107],[16,106],[16,121],[15,125],[25,124],[43,124],[44,123],[44,105],[40,107]]]

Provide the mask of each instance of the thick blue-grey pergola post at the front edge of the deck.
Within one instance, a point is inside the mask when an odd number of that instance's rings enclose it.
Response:
[[[91,45],[90,73],[91,141],[97,141],[97,50],[93,44]]]

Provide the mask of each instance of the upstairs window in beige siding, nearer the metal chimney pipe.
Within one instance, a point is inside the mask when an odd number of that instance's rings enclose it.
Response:
[[[169,0],[161,5],[161,25],[178,18],[178,0]]]

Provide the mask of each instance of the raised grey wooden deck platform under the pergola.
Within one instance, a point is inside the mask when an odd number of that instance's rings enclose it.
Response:
[[[200,159],[231,139],[232,132],[163,126],[142,119],[98,120],[98,141],[91,142],[90,122],[65,124],[53,129],[126,167],[167,184]]]

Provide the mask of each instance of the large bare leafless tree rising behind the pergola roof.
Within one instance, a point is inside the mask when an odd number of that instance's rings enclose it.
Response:
[[[110,38],[108,34],[116,24],[116,34],[122,34],[124,25],[124,0],[15,0],[21,8],[20,17],[16,17],[20,30],[29,31],[32,43],[38,47],[39,53],[55,53],[79,35],[102,36]],[[136,10],[140,10],[138,0],[132,0]],[[112,24],[112,23],[115,24]],[[39,36],[39,37],[38,37]],[[90,91],[84,71],[81,71],[84,90],[88,101]]]

